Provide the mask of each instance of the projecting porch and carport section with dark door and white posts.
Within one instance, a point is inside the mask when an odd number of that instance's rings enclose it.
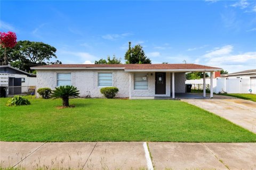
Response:
[[[130,73],[130,99],[174,99],[186,95],[193,98],[193,95],[185,94],[187,72],[203,72],[203,95],[201,97],[204,98],[206,97],[205,74],[210,72],[210,98],[213,98],[213,73],[220,70],[217,67],[197,64],[125,65],[125,72]],[[198,95],[194,96],[194,98],[198,97]]]

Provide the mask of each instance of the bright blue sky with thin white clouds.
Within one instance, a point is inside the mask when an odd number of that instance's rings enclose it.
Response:
[[[256,69],[255,0],[0,1],[0,10],[1,32],[57,48],[63,64],[124,63],[131,41],[152,63]]]

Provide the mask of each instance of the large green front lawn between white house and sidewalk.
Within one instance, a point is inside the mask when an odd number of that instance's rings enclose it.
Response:
[[[179,100],[0,99],[1,141],[256,142],[256,134]]]

